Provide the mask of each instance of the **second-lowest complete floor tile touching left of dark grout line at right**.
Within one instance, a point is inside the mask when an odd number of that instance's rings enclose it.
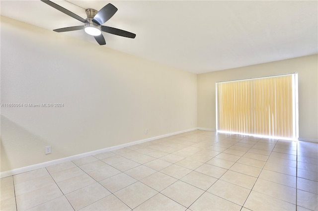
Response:
[[[258,178],[296,188],[296,177],[288,174],[263,169]]]

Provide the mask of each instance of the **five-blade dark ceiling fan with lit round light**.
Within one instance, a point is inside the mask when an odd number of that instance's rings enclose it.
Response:
[[[107,32],[110,34],[114,35],[119,35],[122,37],[128,37],[128,38],[135,38],[136,34],[127,32],[121,29],[116,29],[113,27],[109,26],[102,26],[107,20],[109,20],[116,12],[117,8],[111,4],[108,3],[105,5],[103,8],[101,8],[99,11],[95,9],[86,9],[86,15],[87,18],[83,19],[79,15],[67,10],[66,8],[50,1],[50,0],[41,0],[44,3],[54,7],[57,10],[60,10],[61,12],[79,20],[80,22],[84,23],[82,26],[71,26],[71,27],[66,27],[66,28],[60,28],[60,29],[54,29],[53,31],[55,32],[69,32],[69,31],[76,31],[76,30],[81,30],[84,29],[84,31],[89,34],[94,36],[95,40],[99,45],[105,45],[105,38],[102,35],[103,32]]]

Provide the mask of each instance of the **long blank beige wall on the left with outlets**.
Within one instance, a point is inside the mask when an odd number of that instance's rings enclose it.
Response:
[[[7,171],[195,128],[197,76],[1,17],[1,103],[64,104],[1,107]]]

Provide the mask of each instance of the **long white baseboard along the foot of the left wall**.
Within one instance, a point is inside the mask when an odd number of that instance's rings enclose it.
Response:
[[[100,150],[95,150],[95,151],[91,151],[91,152],[87,152],[87,153],[82,153],[79,155],[74,155],[74,156],[70,156],[70,157],[66,157],[66,158],[60,158],[60,159],[55,159],[55,160],[51,160],[51,161],[47,161],[47,162],[42,162],[42,163],[37,163],[34,165],[29,165],[29,166],[25,166],[25,167],[21,167],[21,168],[15,168],[12,170],[8,170],[8,171],[3,171],[0,172],[0,178],[2,177],[7,177],[7,176],[12,176],[15,174],[20,174],[20,173],[24,173],[27,171],[32,171],[35,169],[39,169],[39,168],[44,168],[47,166],[51,166],[51,165],[55,165],[55,164],[59,164],[62,162],[66,162],[66,161],[71,161],[74,159],[78,159],[78,158],[84,158],[87,156],[93,156],[93,155],[97,155],[99,153],[104,153],[104,152],[108,152],[108,151],[113,151],[113,150],[118,150],[124,147],[129,147],[135,144],[141,144],[144,142],[149,142],[149,141],[153,141],[156,139],[160,139],[160,138],[164,138],[164,137],[168,137],[168,136],[173,136],[176,134],[180,134],[180,133],[185,133],[185,132],[189,132],[189,131],[193,131],[193,130],[198,130],[199,128],[190,128],[187,130],[182,130],[182,131],[178,131],[178,132],[173,132],[173,133],[168,133],[168,134],[164,134],[164,135],[160,135],[160,136],[155,136],[155,137],[151,137],[148,139],[142,139],[142,140],[138,140],[138,141],[134,141],[134,142],[129,142],[126,144],[121,144],[121,145],[117,145],[117,146],[113,146],[113,147],[108,147],[108,148],[104,148],[104,149],[100,149]],[[201,129],[200,129],[201,130]]]

